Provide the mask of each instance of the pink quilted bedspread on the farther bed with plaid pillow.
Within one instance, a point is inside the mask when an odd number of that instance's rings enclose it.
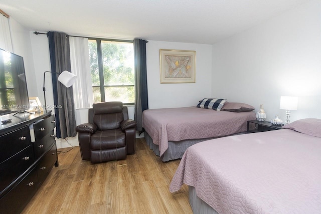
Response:
[[[160,156],[168,141],[221,137],[246,131],[254,112],[227,112],[197,107],[148,109],[143,111],[142,126],[158,145]]]

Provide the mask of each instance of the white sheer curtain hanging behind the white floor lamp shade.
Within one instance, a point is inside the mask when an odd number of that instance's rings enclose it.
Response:
[[[71,72],[77,75],[73,85],[75,108],[91,108],[91,86],[88,38],[69,37]]]

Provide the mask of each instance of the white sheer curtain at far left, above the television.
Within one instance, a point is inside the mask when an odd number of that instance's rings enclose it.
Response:
[[[0,48],[13,52],[9,19],[0,14]]]

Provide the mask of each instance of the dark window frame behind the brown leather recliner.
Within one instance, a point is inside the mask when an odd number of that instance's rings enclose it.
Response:
[[[102,60],[102,53],[101,53],[101,41],[108,41],[108,42],[121,42],[121,43],[134,43],[133,40],[115,40],[115,39],[103,39],[103,38],[93,38],[88,37],[88,41],[95,40],[97,44],[97,58],[98,58],[98,70],[99,70],[99,86],[98,85],[92,85],[91,87],[99,87],[100,89],[100,101],[106,102],[105,99],[105,87],[134,87],[135,90],[135,82],[134,85],[105,85],[104,84],[104,71],[103,71],[103,60]],[[135,70],[134,70],[135,72]],[[133,103],[123,103],[123,105],[135,105],[135,102]]]

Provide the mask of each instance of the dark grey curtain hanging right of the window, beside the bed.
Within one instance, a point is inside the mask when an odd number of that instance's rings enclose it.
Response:
[[[137,131],[142,132],[142,112],[148,109],[146,40],[134,39],[135,61],[135,121]]]

